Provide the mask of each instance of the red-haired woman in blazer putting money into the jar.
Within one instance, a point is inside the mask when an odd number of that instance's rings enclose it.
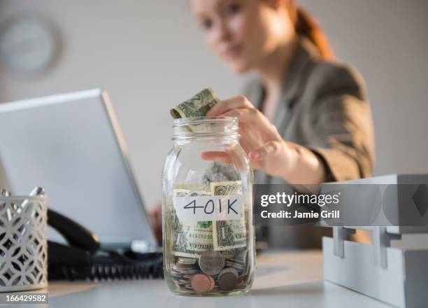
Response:
[[[245,96],[207,116],[239,119],[257,183],[318,184],[369,176],[373,125],[362,78],[333,52],[294,0],[190,0],[206,42],[235,73],[255,71]],[[206,159],[212,157],[206,155]],[[320,232],[287,229],[269,241],[320,246]],[[278,235],[275,237],[275,233]]]

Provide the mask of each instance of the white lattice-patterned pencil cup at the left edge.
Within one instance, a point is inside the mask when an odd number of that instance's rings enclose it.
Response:
[[[0,196],[0,292],[48,286],[46,196]]]

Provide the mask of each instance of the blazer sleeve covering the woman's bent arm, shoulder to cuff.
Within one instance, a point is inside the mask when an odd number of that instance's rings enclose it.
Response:
[[[374,165],[374,132],[366,87],[348,65],[320,63],[312,72],[305,134],[308,147],[327,171],[327,181],[370,176]]]

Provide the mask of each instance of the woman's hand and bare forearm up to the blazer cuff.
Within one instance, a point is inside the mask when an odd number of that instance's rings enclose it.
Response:
[[[285,141],[275,125],[243,95],[218,102],[207,116],[230,116],[239,120],[241,146],[252,167],[292,184],[318,184],[325,181],[324,164],[311,150]],[[228,153],[202,153],[205,160],[233,160]]]

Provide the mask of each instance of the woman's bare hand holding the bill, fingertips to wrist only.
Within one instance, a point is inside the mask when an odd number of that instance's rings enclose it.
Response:
[[[285,176],[294,162],[293,151],[280,137],[276,127],[242,95],[218,102],[207,116],[230,116],[239,120],[241,146],[248,153],[252,167],[264,169],[271,176]],[[206,160],[227,158],[225,153],[203,153]]]

